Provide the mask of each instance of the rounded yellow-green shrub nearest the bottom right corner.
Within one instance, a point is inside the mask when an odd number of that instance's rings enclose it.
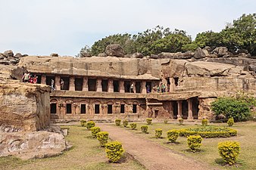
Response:
[[[224,162],[233,165],[236,163],[236,159],[239,156],[240,144],[236,141],[220,142],[218,144],[218,150]]]

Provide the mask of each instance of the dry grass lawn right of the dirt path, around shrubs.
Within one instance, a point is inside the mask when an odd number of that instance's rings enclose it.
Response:
[[[192,123],[186,123],[185,125],[178,125],[178,122],[175,123],[152,123],[148,125],[148,134],[142,133],[140,127],[146,125],[145,123],[137,123],[137,130],[131,130],[131,128],[123,128],[128,131],[141,136],[142,138],[147,138],[151,141],[155,141],[158,144],[161,144],[164,147],[168,147],[171,150],[177,153],[183,153],[186,156],[197,159],[200,162],[207,162],[211,165],[212,168],[220,169],[255,169],[256,167],[256,122],[239,122],[235,123],[233,127],[238,131],[236,137],[231,138],[203,138],[202,146],[200,152],[192,153],[189,151],[187,141],[185,137],[179,137],[175,144],[169,143],[167,140],[167,131],[171,129],[180,129],[180,128],[195,128],[198,125],[192,125]],[[190,124],[190,125],[189,125]],[[214,124],[214,125],[226,125],[223,124]],[[163,130],[162,138],[155,138],[155,129],[161,128]],[[239,141],[241,144],[241,153],[239,154],[239,159],[237,160],[236,165],[223,165],[223,160],[221,159],[218,150],[217,144],[220,141]]]

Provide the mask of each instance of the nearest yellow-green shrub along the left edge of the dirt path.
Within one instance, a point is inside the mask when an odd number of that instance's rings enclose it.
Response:
[[[123,147],[119,141],[112,141],[105,144],[105,152],[111,162],[117,162],[123,155]]]

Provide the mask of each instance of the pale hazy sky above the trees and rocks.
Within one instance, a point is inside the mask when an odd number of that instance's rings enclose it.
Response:
[[[0,0],[0,52],[76,55],[116,33],[157,25],[219,32],[256,12],[256,0]]]

